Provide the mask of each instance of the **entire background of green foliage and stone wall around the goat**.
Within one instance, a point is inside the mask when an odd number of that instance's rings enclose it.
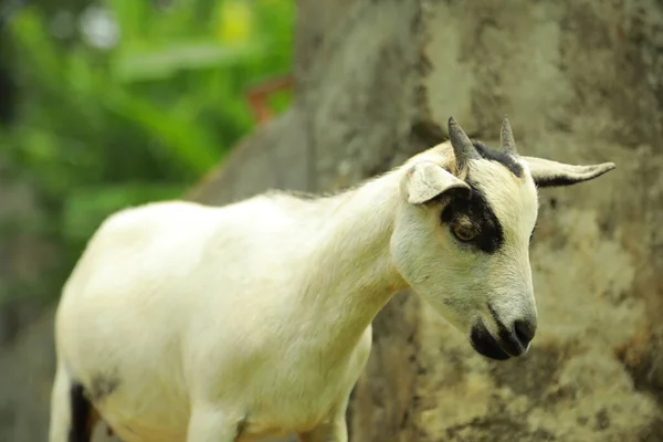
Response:
[[[617,164],[539,192],[533,348],[398,294],[350,441],[663,442],[661,2],[0,0],[0,442],[45,440],[53,309],[113,211],[338,190],[505,114],[524,155]]]

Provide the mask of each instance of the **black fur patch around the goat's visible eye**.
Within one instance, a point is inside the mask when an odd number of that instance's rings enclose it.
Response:
[[[454,198],[442,211],[442,223],[450,229],[463,219],[469,219],[476,230],[476,236],[463,244],[485,253],[495,253],[504,244],[504,230],[483,191],[469,178],[465,182],[472,189],[470,199]]]

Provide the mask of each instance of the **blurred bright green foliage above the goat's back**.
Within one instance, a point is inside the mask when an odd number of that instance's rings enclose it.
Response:
[[[0,145],[36,189],[39,228],[62,245],[69,273],[103,218],[177,198],[252,130],[244,93],[290,71],[295,7],[57,3],[27,2],[2,30],[20,99]]]

